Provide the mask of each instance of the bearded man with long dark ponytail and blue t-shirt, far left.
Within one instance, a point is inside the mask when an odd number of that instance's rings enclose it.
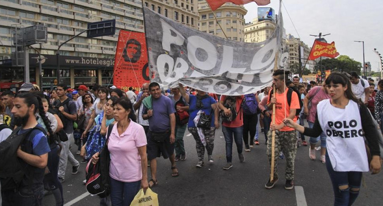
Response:
[[[41,100],[40,100],[41,101]],[[15,124],[21,126],[19,134],[40,126],[35,117],[39,102],[30,93],[18,95],[12,108]],[[2,192],[2,206],[39,206],[43,197],[43,177],[48,162],[49,145],[45,134],[32,130],[17,150],[17,156],[26,164],[25,175],[18,190]]]

